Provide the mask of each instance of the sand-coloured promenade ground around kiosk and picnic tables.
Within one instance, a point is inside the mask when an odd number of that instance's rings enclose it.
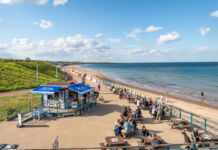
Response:
[[[80,80],[79,77],[75,78]],[[96,87],[94,82],[88,84]],[[106,136],[114,136],[113,125],[124,107],[136,108],[135,104],[128,103],[125,99],[119,100],[118,95],[112,94],[103,85],[100,96],[104,97],[105,102],[97,104],[91,112],[81,116],[30,121],[25,123],[24,128],[16,128],[16,121],[1,122],[0,143],[19,144],[21,149],[52,148],[58,136],[60,148],[99,147],[99,143],[105,143]],[[151,133],[157,133],[167,143],[184,143],[181,131],[170,129],[167,121],[155,123],[148,111],[142,111],[142,114],[143,120],[138,124],[139,129],[145,125]],[[140,141],[140,130],[126,141],[131,146],[137,146]]]

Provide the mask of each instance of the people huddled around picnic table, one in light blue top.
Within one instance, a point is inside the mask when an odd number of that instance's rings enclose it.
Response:
[[[137,108],[138,109],[138,108]],[[141,110],[137,110],[138,116],[141,116]],[[122,136],[126,138],[128,135],[135,132],[137,129],[137,122],[136,122],[137,115],[133,115],[132,110],[130,107],[125,107],[123,113],[120,115],[120,118],[114,124],[114,133],[115,136]]]

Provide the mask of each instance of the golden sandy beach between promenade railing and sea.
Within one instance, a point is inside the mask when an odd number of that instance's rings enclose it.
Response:
[[[68,68],[73,69],[75,72],[87,73],[87,76],[89,77],[92,76],[96,78],[111,80],[97,72],[77,68],[76,66],[73,66],[73,65],[69,66]],[[74,76],[74,78],[78,78],[78,77]],[[142,96],[146,95],[152,99],[156,99],[160,97],[160,93],[158,92],[139,89],[134,86],[129,86],[127,84],[124,84],[124,83],[121,83],[115,80],[112,80],[112,81],[116,83],[116,86],[121,86],[121,87],[130,89],[130,90],[133,90],[133,94],[135,92],[141,93]],[[212,122],[218,123],[218,116],[217,116],[218,108],[215,106],[207,105],[207,104],[200,103],[200,102],[190,101],[187,99],[181,99],[181,98],[177,98],[177,97],[170,96],[170,95],[165,95],[165,98],[169,99],[169,102],[168,102],[169,105],[180,108],[181,110],[184,110],[186,112],[193,113],[201,117],[202,119],[207,118]]]

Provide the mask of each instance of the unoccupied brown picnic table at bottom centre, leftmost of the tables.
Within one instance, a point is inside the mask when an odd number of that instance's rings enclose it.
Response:
[[[125,146],[126,142],[121,136],[109,136],[105,138],[107,147],[111,146]]]

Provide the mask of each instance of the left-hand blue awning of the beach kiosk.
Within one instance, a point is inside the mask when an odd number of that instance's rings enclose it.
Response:
[[[61,86],[39,86],[36,89],[32,90],[31,94],[54,95],[54,93],[57,92],[61,88],[62,88]]]

